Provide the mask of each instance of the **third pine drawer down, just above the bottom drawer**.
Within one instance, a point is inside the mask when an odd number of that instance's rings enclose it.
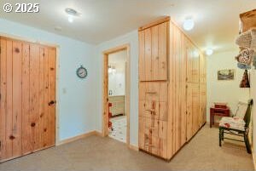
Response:
[[[166,140],[167,123],[165,121],[140,117],[139,125],[140,133]]]

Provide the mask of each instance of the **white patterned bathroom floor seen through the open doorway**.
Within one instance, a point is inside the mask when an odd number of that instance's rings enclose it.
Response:
[[[112,122],[113,131],[109,130],[108,136],[121,142],[126,142],[126,116],[113,117],[110,119]]]

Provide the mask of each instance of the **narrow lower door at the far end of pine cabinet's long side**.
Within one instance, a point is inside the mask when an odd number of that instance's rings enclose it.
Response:
[[[207,84],[200,84],[201,126],[207,122]]]

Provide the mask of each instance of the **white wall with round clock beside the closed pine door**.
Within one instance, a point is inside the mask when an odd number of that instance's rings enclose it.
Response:
[[[42,31],[0,19],[0,33],[32,39],[33,41],[59,45],[59,140],[87,133],[96,129],[96,58],[95,47]],[[76,69],[83,64],[89,76],[80,80]],[[66,93],[65,93],[66,92]]]

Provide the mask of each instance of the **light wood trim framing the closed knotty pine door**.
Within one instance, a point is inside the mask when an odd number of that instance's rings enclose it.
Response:
[[[17,41],[24,41],[27,43],[36,43],[38,45],[42,46],[48,46],[51,48],[55,48],[56,50],[56,59],[55,59],[55,145],[60,144],[60,131],[59,131],[59,116],[60,116],[60,94],[59,94],[59,76],[60,76],[60,46],[55,43],[49,43],[49,42],[43,42],[43,41],[38,41],[37,39],[34,38],[28,38],[28,37],[20,37],[20,36],[15,36],[9,33],[4,33],[0,32],[0,37],[6,37],[9,39],[17,40]]]

